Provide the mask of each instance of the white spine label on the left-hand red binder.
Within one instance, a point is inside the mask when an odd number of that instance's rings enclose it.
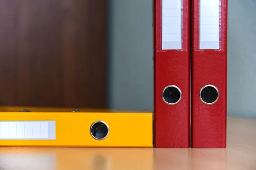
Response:
[[[181,0],[162,0],[162,49],[182,49]]]

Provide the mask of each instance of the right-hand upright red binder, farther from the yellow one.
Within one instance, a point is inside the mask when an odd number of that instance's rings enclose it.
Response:
[[[192,147],[226,147],[227,0],[192,0]]]

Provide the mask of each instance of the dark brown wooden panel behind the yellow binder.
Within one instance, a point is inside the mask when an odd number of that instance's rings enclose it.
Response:
[[[107,107],[106,0],[0,0],[0,105]]]

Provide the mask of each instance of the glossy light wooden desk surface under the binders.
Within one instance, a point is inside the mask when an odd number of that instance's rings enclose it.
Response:
[[[256,170],[256,120],[227,122],[226,149],[0,147],[0,170]]]

